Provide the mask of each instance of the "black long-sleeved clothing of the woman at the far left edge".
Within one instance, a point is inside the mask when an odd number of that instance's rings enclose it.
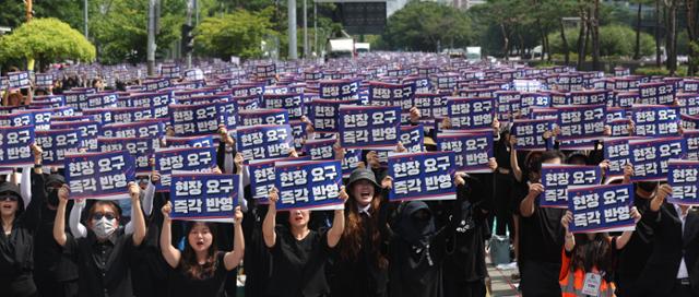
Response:
[[[9,186],[9,182],[2,183]],[[34,238],[45,200],[44,177],[32,170],[29,205],[24,210],[24,202],[20,199],[12,231],[5,235],[4,230],[0,230],[0,296],[22,297],[37,294],[33,275]]]

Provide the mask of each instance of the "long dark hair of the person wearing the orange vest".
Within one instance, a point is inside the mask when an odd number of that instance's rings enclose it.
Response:
[[[572,249],[571,268],[591,272],[592,268],[608,272],[612,270],[612,243],[606,233],[597,233],[590,240],[585,234],[576,234],[576,247]]]

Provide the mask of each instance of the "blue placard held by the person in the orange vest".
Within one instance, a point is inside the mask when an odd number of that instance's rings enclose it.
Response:
[[[603,233],[636,229],[631,217],[633,185],[568,188],[571,233]]]

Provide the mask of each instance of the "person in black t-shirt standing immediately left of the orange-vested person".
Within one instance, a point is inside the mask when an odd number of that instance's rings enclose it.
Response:
[[[541,162],[561,164],[565,156],[558,151],[542,154]],[[541,173],[541,164],[535,166]],[[564,247],[565,229],[560,219],[565,209],[540,207],[537,198],[544,187],[534,182],[529,193],[520,202],[520,274],[524,296],[560,296],[558,276],[560,273],[560,251]]]

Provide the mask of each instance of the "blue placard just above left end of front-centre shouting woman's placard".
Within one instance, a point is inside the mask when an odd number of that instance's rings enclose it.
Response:
[[[288,156],[294,143],[288,124],[259,124],[237,130],[237,147],[246,161]]]

